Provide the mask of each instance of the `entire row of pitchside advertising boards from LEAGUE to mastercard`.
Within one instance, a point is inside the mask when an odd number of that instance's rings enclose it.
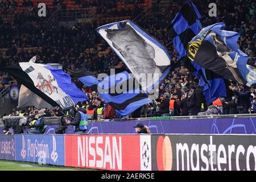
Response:
[[[0,135],[0,159],[107,170],[256,170],[256,135]]]

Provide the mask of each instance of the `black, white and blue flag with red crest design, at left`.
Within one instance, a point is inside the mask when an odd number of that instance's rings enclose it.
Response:
[[[10,73],[20,84],[52,106],[61,106],[64,109],[79,101],[88,100],[71,82],[71,77],[61,69],[28,62],[3,67],[1,70]]]

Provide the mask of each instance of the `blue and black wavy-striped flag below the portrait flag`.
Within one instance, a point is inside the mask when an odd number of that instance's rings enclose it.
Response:
[[[142,93],[139,84],[126,71],[107,76],[100,81],[85,69],[73,72],[72,75],[96,90],[119,115],[129,115],[139,107],[152,102],[147,94]]]

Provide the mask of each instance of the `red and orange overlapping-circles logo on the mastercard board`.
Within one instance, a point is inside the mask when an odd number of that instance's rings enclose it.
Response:
[[[159,171],[172,170],[172,144],[169,137],[159,137],[156,146],[156,163]]]

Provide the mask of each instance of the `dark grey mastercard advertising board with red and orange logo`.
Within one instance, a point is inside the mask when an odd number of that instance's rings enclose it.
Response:
[[[152,170],[256,171],[256,136],[153,135]]]

